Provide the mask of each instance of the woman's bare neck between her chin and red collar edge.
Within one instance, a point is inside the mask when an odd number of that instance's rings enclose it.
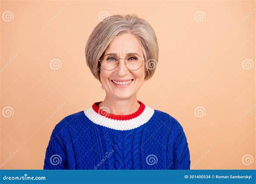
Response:
[[[136,112],[140,104],[137,101],[137,96],[134,95],[132,98],[116,100],[109,96],[106,96],[104,101],[100,103],[100,107],[107,107],[110,110],[111,114],[116,115],[130,115]]]

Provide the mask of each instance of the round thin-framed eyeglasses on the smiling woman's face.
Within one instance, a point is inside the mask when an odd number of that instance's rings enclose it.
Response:
[[[100,66],[105,70],[113,70],[119,65],[120,59],[124,58],[118,58],[118,56],[113,54],[106,54],[102,57],[102,59],[99,59],[99,62]],[[144,61],[144,59],[137,54],[127,55],[124,60],[126,68],[130,70],[139,69],[142,67]]]

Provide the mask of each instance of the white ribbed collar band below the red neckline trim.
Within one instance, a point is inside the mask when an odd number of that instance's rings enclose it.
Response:
[[[153,116],[154,109],[145,105],[145,109],[143,110],[142,114],[128,120],[117,120],[105,117],[95,112],[92,107],[84,110],[84,114],[93,123],[105,126],[106,128],[114,130],[131,130],[147,123]]]

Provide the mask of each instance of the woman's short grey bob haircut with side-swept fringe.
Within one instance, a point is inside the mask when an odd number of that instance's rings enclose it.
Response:
[[[111,40],[124,33],[136,36],[143,46],[143,56],[146,61],[145,80],[150,79],[158,63],[158,43],[156,33],[151,25],[137,15],[113,15],[104,18],[92,31],[85,46],[87,66],[93,76],[100,81],[99,59],[104,55],[105,49]]]

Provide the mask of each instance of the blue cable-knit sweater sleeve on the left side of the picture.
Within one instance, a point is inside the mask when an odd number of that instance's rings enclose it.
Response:
[[[45,153],[44,169],[66,169],[66,149],[64,141],[60,136],[61,130],[62,128],[59,123],[51,133]]]

